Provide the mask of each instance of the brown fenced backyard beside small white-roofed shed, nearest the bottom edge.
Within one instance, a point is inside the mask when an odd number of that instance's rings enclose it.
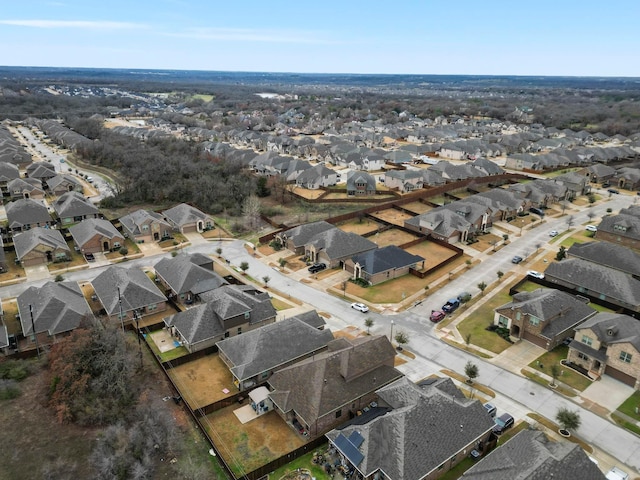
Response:
[[[307,438],[270,411],[242,424],[233,411],[240,405],[218,410],[205,418],[205,429],[218,451],[239,477],[304,445]]]

